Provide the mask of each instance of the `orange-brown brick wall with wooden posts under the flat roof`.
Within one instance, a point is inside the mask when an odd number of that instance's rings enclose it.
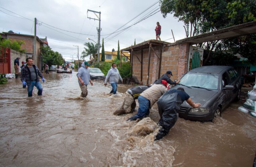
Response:
[[[160,55],[159,47],[154,47],[155,51]],[[162,51],[161,70],[160,77],[171,70],[173,76],[171,80],[180,79],[187,72],[188,65],[188,54],[189,54],[189,43],[176,44],[173,43],[169,46],[165,46]],[[149,84],[153,83],[158,78],[158,71],[160,61],[158,57],[151,50],[150,58],[150,70],[149,70]],[[141,82],[141,50],[133,52],[133,76]],[[148,75],[148,60],[149,60],[149,49],[143,49],[143,63],[142,63],[142,82],[147,84]]]

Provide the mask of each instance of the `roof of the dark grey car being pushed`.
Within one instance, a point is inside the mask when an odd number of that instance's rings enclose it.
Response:
[[[188,72],[202,72],[202,73],[221,73],[227,69],[232,68],[231,66],[224,65],[208,65],[194,68]]]

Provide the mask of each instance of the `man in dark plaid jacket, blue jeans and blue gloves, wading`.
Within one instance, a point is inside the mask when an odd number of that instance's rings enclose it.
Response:
[[[33,64],[31,58],[26,58],[27,65],[21,69],[20,80],[22,81],[23,87],[27,85],[28,97],[32,97],[34,86],[37,88],[38,96],[42,96],[42,85],[40,83],[38,75],[45,82],[45,78],[36,65]]]

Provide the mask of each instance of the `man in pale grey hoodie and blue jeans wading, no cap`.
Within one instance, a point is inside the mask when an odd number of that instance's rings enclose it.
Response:
[[[114,94],[116,94],[118,80],[120,79],[121,82],[123,82],[123,79],[122,79],[121,75],[119,74],[119,71],[116,68],[115,63],[112,63],[110,70],[108,70],[108,72],[107,72],[107,76],[106,76],[105,83],[104,83],[105,86],[107,86],[108,78],[109,78],[109,82],[112,86],[112,90],[109,94],[113,93],[113,95],[114,95]]]

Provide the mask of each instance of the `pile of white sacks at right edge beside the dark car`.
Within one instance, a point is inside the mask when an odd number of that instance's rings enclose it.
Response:
[[[250,113],[253,117],[256,117],[256,85],[254,85],[253,90],[248,92],[249,99],[243,104],[242,107],[238,109],[245,113]]]

